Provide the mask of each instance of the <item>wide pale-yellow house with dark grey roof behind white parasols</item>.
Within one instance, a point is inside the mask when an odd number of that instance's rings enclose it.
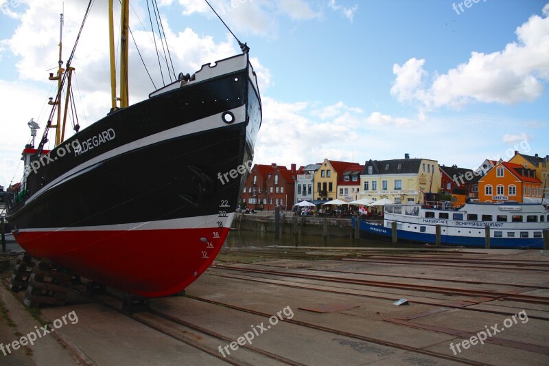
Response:
[[[441,170],[431,159],[370,160],[360,174],[360,198],[387,198],[395,203],[421,203],[425,194],[439,193]]]

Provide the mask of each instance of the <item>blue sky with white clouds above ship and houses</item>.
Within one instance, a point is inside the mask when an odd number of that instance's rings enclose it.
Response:
[[[145,1],[130,2],[148,23]],[[85,3],[65,1],[65,58]],[[73,62],[82,126],[108,111],[106,23],[96,3]],[[469,8],[444,0],[211,3],[248,43],[259,75],[256,163],[364,163],[409,153],[476,168],[487,158],[508,160],[513,150],[549,154],[546,0],[479,0]],[[176,70],[238,52],[203,0],[159,5]],[[20,179],[26,122],[45,124],[62,1],[0,0],[0,9],[0,185],[7,186]],[[150,32],[135,16],[132,29],[154,68]],[[132,63],[130,102],[153,90],[143,73]]]

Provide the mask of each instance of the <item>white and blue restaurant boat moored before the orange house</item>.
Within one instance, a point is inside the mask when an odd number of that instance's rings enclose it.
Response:
[[[395,222],[399,241],[484,248],[489,236],[490,248],[542,249],[549,211],[541,203],[385,205],[382,223],[356,222],[361,238],[393,238]]]

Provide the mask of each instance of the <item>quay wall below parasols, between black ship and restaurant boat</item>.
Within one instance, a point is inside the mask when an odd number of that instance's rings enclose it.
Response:
[[[274,214],[235,214],[231,228],[274,233]],[[280,231],[282,234],[353,237],[353,226],[350,218],[284,216],[280,218]]]

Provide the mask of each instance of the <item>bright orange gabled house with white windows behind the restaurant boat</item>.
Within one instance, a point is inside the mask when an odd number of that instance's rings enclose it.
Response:
[[[535,170],[515,163],[498,161],[478,181],[478,201],[541,202],[543,186]]]

